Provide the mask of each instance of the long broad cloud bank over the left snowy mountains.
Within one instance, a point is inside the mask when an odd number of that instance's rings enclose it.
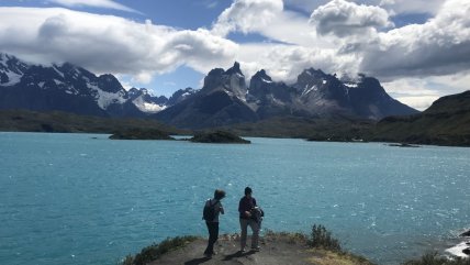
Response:
[[[67,9],[0,8],[0,51],[40,63],[69,62],[142,82],[181,65],[208,71],[238,45],[208,30],[176,30]]]

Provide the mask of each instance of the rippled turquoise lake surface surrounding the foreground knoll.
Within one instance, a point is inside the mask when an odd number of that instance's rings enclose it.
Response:
[[[265,230],[321,223],[380,264],[441,251],[470,227],[470,148],[249,140],[0,133],[0,263],[114,265],[167,236],[205,235],[215,188],[227,192],[222,233],[238,231],[250,186]]]

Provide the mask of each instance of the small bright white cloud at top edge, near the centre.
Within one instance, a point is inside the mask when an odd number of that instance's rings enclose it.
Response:
[[[235,0],[219,15],[212,32],[220,36],[256,32],[275,21],[282,10],[282,0]]]

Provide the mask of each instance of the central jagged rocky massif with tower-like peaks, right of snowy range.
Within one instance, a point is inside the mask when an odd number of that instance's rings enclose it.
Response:
[[[301,73],[295,84],[287,85],[260,70],[248,87],[235,63],[227,70],[211,70],[200,91],[155,118],[180,128],[201,129],[286,115],[379,120],[413,113],[418,111],[392,99],[372,77],[342,81],[311,68]]]

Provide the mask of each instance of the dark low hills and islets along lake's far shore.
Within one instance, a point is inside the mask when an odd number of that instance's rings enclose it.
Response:
[[[427,117],[427,115],[423,115]],[[407,130],[410,121],[404,118],[385,118],[371,121],[335,121],[328,119],[304,119],[284,117],[214,128],[212,132],[223,131],[240,136],[290,137],[315,142],[384,142],[407,145],[440,145],[470,147],[470,130],[462,124],[459,129],[447,130],[447,125],[434,126],[428,134],[419,130],[426,125]],[[426,122],[428,122],[426,120]],[[395,124],[395,125],[393,125]],[[109,133],[115,139],[171,140],[167,135],[199,135],[199,132],[177,129],[152,119],[87,117],[53,111],[0,110],[0,131],[4,132],[49,132],[49,133]],[[126,135],[136,132],[135,136]],[[159,134],[161,131],[164,134]],[[206,133],[206,132],[205,132]],[[190,140],[191,141],[191,140]],[[194,139],[191,142],[215,143],[211,137]],[[237,141],[235,141],[237,142]],[[238,141],[243,142],[243,141]]]

